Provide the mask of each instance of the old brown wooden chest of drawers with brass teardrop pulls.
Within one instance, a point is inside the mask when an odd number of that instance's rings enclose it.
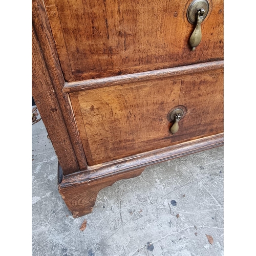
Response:
[[[33,0],[32,21],[32,95],[74,217],[147,165],[223,144],[222,0]]]

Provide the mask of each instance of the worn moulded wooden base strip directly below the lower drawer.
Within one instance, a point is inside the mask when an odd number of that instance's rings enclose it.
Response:
[[[85,171],[70,174],[65,177],[62,177],[60,172],[59,177],[61,179],[59,180],[59,186],[64,188],[73,186],[75,184],[78,185],[90,180],[97,180],[103,176],[115,175],[116,173],[124,172],[125,170],[146,167],[148,165],[172,160],[177,157],[194,154],[203,150],[209,150],[210,148],[221,146],[223,144],[223,133],[203,138],[195,138],[191,141],[181,141],[180,143],[159,148],[158,150],[143,152],[135,156],[125,157],[94,166],[88,166],[88,169]]]

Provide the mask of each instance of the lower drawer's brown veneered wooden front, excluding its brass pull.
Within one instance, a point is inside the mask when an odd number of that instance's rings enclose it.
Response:
[[[70,93],[89,165],[223,132],[223,70]],[[167,115],[186,108],[172,135]]]

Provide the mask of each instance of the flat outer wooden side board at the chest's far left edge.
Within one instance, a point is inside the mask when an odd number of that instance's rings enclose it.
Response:
[[[51,138],[63,173],[79,170],[66,124],[54,92],[51,77],[41,55],[35,31],[32,27],[32,95]]]

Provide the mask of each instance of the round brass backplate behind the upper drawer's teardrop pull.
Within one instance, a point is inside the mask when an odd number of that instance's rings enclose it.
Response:
[[[197,24],[198,10],[203,8],[204,20],[209,12],[209,2],[207,0],[194,0],[187,9],[187,19],[191,24]]]

